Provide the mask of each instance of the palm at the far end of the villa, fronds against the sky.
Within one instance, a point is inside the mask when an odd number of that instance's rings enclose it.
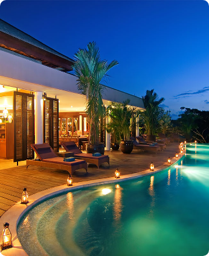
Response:
[[[161,120],[161,116],[164,113],[159,104],[164,101],[164,98],[158,99],[158,95],[153,89],[147,90],[146,95],[142,98],[145,110],[141,112],[140,116],[147,133],[147,141],[156,141],[159,120]]]

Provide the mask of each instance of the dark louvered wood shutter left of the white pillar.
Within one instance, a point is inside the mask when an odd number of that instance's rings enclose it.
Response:
[[[34,95],[13,93],[14,162],[34,158]]]

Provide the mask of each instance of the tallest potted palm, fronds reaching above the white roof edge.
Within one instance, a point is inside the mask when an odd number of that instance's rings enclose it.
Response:
[[[89,144],[86,144],[87,153],[100,152],[104,154],[105,146],[99,143],[100,118],[105,114],[102,101],[102,92],[105,86],[100,84],[108,70],[118,64],[117,61],[100,59],[100,52],[95,42],[89,42],[87,49],[79,49],[74,55],[76,61],[73,69],[78,76],[78,89],[86,95],[86,115],[89,120]]]

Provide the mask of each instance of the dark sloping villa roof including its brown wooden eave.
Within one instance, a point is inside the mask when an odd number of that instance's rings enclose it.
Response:
[[[73,60],[0,19],[0,47],[37,59],[43,65],[72,70]]]

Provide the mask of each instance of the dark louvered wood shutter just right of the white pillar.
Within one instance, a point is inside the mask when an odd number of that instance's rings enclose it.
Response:
[[[59,152],[59,99],[46,97],[43,101],[43,142]]]

